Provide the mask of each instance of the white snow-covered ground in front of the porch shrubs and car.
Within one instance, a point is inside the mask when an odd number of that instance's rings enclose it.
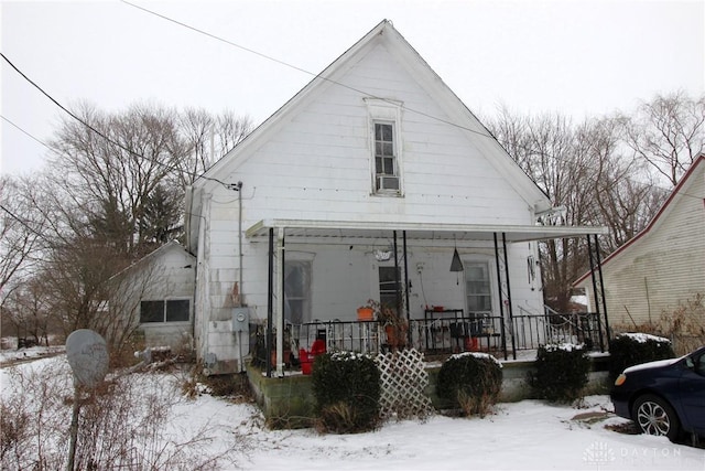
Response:
[[[57,371],[65,356],[15,367],[41,364]],[[10,377],[8,368],[0,371],[3,390]],[[170,377],[164,375],[165,384]],[[180,433],[206,428],[204,447],[214,454],[239,437],[246,451],[237,467],[248,470],[705,470],[705,450],[610,430],[606,426],[628,420],[609,411],[607,396],[589,396],[581,408],[523,400],[500,404],[482,419],[438,415],[387,422],[368,433],[319,435],[269,430],[254,406],[204,394],[180,400],[169,427]],[[235,469],[229,467],[221,469]]]

